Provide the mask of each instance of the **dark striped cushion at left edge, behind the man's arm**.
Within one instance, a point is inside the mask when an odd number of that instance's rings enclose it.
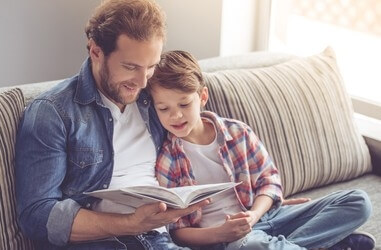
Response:
[[[0,94],[0,249],[33,249],[16,223],[14,157],[15,137],[24,98],[20,89]]]

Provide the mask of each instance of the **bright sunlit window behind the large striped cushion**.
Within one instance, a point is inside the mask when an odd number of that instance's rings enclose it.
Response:
[[[381,105],[381,0],[273,0],[270,51],[331,46],[347,91]]]

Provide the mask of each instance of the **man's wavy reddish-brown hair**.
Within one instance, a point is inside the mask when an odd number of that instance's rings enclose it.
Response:
[[[85,32],[108,56],[121,34],[137,41],[165,40],[165,14],[154,0],[107,0],[95,9]]]

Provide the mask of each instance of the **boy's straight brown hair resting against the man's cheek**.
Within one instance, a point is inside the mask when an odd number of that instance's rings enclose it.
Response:
[[[150,92],[155,85],[200,93],[205,83],[197,60],[186,51],[173,50],[161,55],[153,76],[148,80],[147,90]]]

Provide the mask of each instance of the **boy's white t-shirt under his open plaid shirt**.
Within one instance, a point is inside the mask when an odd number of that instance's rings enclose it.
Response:
[[[229,182],[216,138],[209,145],[198,145],[182,140],[185,154],[189,158],[197,184]],[[212,197],[212,203],[202,209],[201,227],[221,225],[227,214],[241,212],[241,206],[233,189]]]

